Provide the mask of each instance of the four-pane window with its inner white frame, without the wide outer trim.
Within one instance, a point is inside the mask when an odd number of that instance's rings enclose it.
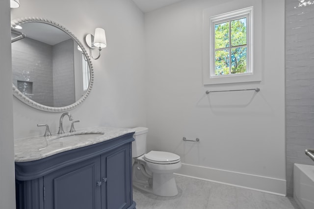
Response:
[[[252,7],[210,18],[210,77],[252,73]]]

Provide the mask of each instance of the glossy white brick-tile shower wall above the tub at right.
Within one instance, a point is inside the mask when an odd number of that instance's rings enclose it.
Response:
[[[314,148],[314,6],[294,8],[286,0],[287,195],[293,195],[293,163],[313,164],[304,150]]]

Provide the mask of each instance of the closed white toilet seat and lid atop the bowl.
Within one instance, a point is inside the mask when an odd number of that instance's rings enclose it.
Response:
[[[173,164],[180,162],[180,156],[170,152],[150,151],[144,154],[145,161],[156,164]]]

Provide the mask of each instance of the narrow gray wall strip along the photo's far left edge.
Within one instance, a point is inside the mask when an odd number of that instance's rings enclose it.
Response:
[[[15,209],[9,0],[0,0],[0,25],[0,209]]]

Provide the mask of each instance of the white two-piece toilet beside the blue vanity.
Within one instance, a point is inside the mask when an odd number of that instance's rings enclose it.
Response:
[[[173,172],[181,168],[180,156],[170,152],[150,151],[146,154],[148,128],[136,127],[132,142],[133,186],[159,196],[176,196]]]

